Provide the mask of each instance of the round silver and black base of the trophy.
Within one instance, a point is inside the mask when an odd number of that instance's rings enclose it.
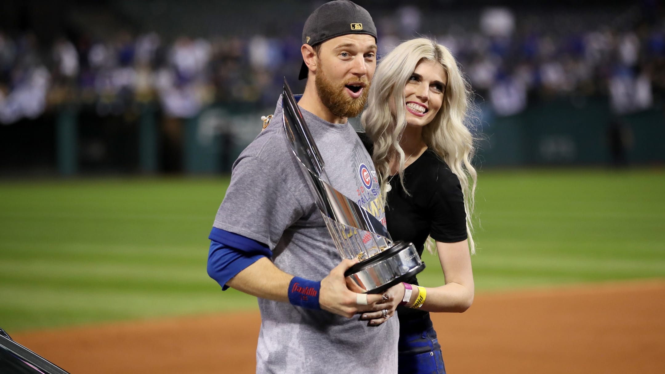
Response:
[[[425,264],[411,243],[396,242],[387,250],[351,266],[344,276],[364,293],[382,293],[386,289],[422,272]]]

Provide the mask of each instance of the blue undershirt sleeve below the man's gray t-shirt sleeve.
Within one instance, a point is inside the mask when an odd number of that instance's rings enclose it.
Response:
[[[208,238],[210,250],[207,273],[221,285],[222,290],[229,288],[226,282],[247,266],[257,262],[259,258],[273,256],[273,252],[265,244],[233,232],[212,228]]]

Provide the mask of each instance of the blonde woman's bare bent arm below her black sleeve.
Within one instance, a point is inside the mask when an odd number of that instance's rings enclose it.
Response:
[[[425,301],[419,309],[462,313],[473,303],[473,272],[467,241],[436,242],[436,250],[441,268],[444,270],[446,284],[427,287]],[[406,306],[413,305],[418,299],[419,292],[415,292],[415,288]]]

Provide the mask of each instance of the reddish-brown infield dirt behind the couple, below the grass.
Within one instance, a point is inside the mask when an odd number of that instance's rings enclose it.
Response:
[[[432,319],[448,373],[665,373],[662,280],[480,293]],[[250,311],[11,335],[72,374],[254,373],[260,323]]]

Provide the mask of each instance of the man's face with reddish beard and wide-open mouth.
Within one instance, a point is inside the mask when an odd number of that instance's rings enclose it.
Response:
[[[317,93],[332,114],[358,116],[375,69],[376,42],[371,35],[348,34],[325,41],[317,55]]]

